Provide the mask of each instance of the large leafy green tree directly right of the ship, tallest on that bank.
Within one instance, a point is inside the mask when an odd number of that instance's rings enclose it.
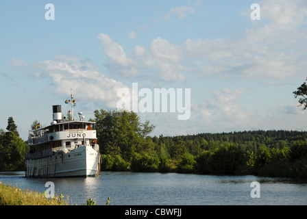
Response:
[[[145,137],[154,128],[149,121],[141,123],[134,112],[95,110],[94,114],[101,153],[121,155],[125,161],[130,160],[138,148],[143,149],[148,142]]]

